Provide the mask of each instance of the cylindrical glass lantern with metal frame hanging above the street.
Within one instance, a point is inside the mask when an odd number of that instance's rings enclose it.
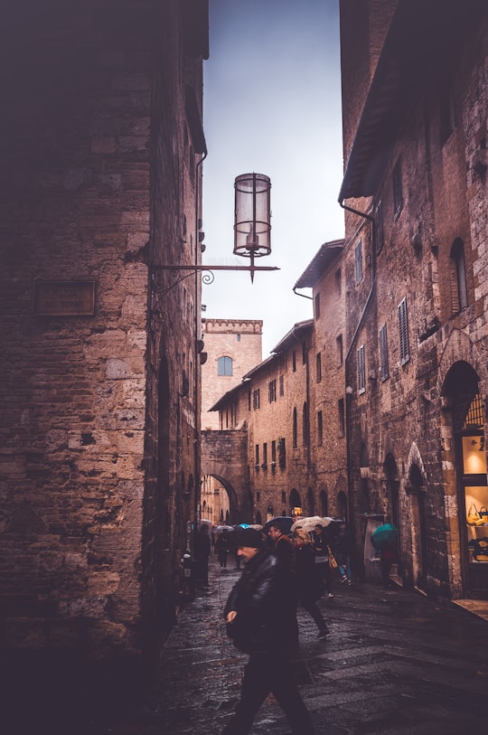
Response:
[[[234,183],[234,253],[260,258],[271,252],[271,181],[264,174],[241,174]]]

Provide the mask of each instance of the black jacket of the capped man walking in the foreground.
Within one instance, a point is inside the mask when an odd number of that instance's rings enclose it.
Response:
[[[224,617],[234,645],[247,654],[285,654],[296,647],[296,592],[286,566],[266,547],[246,562],[230,590]]]

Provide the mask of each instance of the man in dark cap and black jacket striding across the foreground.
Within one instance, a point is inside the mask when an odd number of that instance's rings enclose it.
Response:
[[[294,735],[313,735],[290,660],[296,651],[297,628],[289,568],[267,549],[260,532],[249,528],[236,533],[245,568],[230,591],[224,617],[229,636],[240,651],[249,654],[249,662],[240,702],[222,735],[246,735],[268,693],[285,711]]]

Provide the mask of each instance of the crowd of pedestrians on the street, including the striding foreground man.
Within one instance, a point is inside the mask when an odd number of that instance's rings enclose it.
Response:
[[[292,530],[293,529],[293,530]],[[352,537],[346,523],[315,523],[312,530],[283,519],[257,528],[222,529],[215,535],[202,524],[194,540],[195,579],[208,587],[211,549],[222,571],[231,554],[239,580],[224,608],[228,635],[239,651],[249,655],[236,710],[222,735],[246,735],[269,693],[286,714],[295,735],[313,735],[314,727],[296,685],[293,661],[298,649],[296,611],[304,608],[318,629],[318,638],[330,630],[318,606],[333,598],[333,584],[352,584]],[[382,581],[389,583],[391,561],[381,551]]]

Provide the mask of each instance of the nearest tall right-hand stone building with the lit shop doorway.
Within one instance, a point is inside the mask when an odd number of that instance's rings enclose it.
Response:
[[[355,5],[341,3],[351,520],[360,550],[371,515],[398,525],[407,587],[488,597],[488,525],[467,523],[488,504],[487,7]]]

